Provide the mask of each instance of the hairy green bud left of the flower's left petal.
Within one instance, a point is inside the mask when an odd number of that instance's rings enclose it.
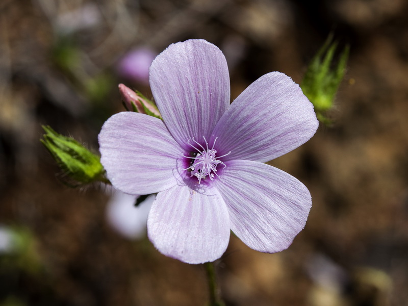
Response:
[[[45,133],[41,143],[48,149],[60,168],[74,181],[73,186],[92,182],[109,181],[100,158],[89,151],[73,138],[55,132],[51,127],[43,125]]]

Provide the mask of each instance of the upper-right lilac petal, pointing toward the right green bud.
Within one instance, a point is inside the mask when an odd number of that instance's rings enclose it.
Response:
[[[245,89],[213,132],[224,160],[267,162],[297,148],[316,132],[313,105],[287,75],[271,72]]]

